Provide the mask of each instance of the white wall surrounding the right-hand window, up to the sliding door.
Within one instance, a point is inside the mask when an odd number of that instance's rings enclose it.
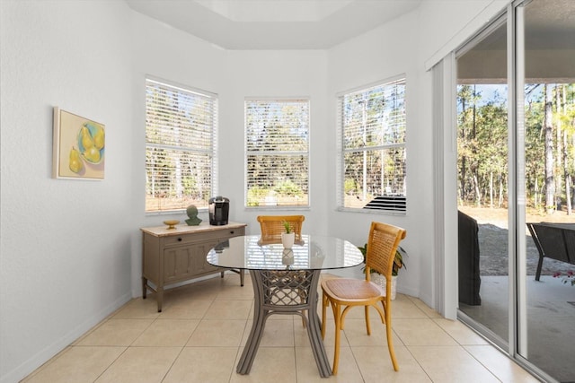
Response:
[[[328,52],[328,95],[334,100],[342,91],[405,74],[407,82],[407,200],[405,216],[373,212],[338,212],[335,195],[329,195],[328,222],[333,235],[353,243],[365,243],[372,221],[402,226],[407,237],[402,246],[409,254],[407,269],[400,272],[398,291],[420,297],[435,307],[433,229],[433,169],[431,74],[426,63],[435,64],[469,38],[498,13],[505,0],[429,1],[384,26],[350,39]],[[445,53],[444,53],[445,52]],[[433,62],[433,60],[436,60]],[[329,124],[335,126],[335,104],[327,105]],[[328,136],[329,148],[335,135]],[[330,149],[332,151],[333,149]],[[330,157],[335,153],[330,152]],[[335,164],[328,169],[335,173]],[[456,180],[450,180],[455,187]],[[335,189],[335,177],[329,179]],[[449,187],[449,186],[448,186]],[[443,255],[439,255],[442,257]],[[456,289],[455,286],[451,286]]]

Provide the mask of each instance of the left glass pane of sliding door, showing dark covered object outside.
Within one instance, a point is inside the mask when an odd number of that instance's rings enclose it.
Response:
[[[459,309],[509,342],[507,24],[457,58]]]

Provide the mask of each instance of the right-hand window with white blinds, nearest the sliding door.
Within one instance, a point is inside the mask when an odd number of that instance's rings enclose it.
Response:
[[[405,79],[338,98],[338,205],[405,213]]]

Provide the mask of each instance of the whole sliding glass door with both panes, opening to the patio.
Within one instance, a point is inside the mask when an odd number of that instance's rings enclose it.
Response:
[[[459,317],[575,381],[575,1],[509,5],[456,68]]]

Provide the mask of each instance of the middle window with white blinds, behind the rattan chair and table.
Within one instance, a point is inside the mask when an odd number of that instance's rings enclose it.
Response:
[[[309,100],[246,100],[246,201],[309,206]]]

